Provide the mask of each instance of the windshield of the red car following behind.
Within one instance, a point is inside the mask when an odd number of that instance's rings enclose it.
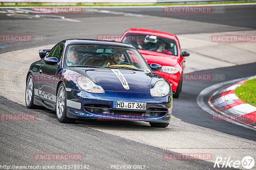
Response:
[[[177,45],[173,39],[148,34],[127,33],[122,42],[129,43],[137,49],[178,56]]]

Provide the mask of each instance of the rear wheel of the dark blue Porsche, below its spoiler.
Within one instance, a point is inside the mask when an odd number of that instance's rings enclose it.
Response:
[[[33,76],[31,73],[28,75],[28,79],[27,79],[25,99],[26,99],[26,106],[28,109],[36,108],[36,105],[34,104],[34,82],[33,82]]]

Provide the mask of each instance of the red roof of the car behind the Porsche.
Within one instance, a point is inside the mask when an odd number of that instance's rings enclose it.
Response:
[[[129,33],[149,34],[149,35],[156,35],[156,36],[164,37],[168,39],[174,39],[174,35],[171,33],[157,31],[157,30],[143,29],[143,28],[131,28]]]

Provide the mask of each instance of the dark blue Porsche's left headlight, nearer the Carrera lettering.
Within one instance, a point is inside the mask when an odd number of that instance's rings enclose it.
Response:
[[[104,90],[101,86],[96,85],[91,79],[85,76],[78,77],[77,83],[84,91],[90,93],[104,93]]]

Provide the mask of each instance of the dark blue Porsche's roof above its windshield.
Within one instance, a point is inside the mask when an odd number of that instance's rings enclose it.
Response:
[[[99,40],[99,39],[64,39],[64,40],[60,41],[60,43],[61,42],[64,42],[66,45],[86,43],[86,44],[102,44],[102,45],[112,45],[112,46],[122,46],[122,47],[134,48],[132,45],[124,43],[124,42]]]

